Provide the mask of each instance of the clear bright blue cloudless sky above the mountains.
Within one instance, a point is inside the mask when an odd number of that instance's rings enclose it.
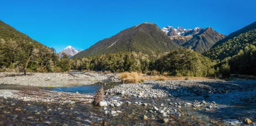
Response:
[[[0,0],[0,5],[0,20],[57,51],[68,45],[87,49],[142,22],[210,26],[228,35],[256,21],[255,0]]]

